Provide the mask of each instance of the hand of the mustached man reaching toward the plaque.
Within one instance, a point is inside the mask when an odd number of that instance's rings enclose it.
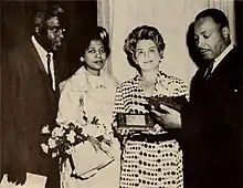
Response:
[[[160,104],[160,108],[167,113],[160,113],[152,109],[151,114],[158,121],[158,123],[165,128],[181,128],[181,117],[180,113]]]

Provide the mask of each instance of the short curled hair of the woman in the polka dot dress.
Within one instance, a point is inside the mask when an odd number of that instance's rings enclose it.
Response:
[[[128,35],[128,38],[125,40],[124,44],[124,51],[127,55],[127,60],[131,66],[137,69],[139,71],[138,65],[135,63],[135,51],[136,45],[139,40],[151,40],[155,42],[160,58],[162,58],[162,52],[166,48],[166,44],[163,42],[162,35],[159,33],[159,31],[154,27],[148,25],[141,25],[135,28]]]

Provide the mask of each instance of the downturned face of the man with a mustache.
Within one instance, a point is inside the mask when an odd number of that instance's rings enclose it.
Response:
[[[194,23],[196,46],[207,61],[214,60],[224,51],[228,36],[211,17],[201,18]]]

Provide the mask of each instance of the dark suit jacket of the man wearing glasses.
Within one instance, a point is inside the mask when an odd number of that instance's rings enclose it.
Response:
[[[44,125],[54,126],[59,94],[52,90],[31,41],[14,48],[6,60],[9,72],[2,107],[4,173],[19,168],[49,178],[55,176],[59,184],[57,160],[53,161],[41,149],[41,129]]]

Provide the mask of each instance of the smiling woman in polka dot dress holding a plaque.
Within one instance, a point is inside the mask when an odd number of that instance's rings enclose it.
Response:
[[[114,127],[117,127],[117,113],[149,113],[145,108],[146,97],[188,96],[181,80],[159,71],[163,49],[163,39],[152,27],[138,27],[126,39],[127,60],[138,74],[117,87]],[[123,140],[120,188],[183,187],[182,152],[169,133],[159,125],[147,132],[129,130],[129,138]],[[124,132],[119,134],[124,136]]]

